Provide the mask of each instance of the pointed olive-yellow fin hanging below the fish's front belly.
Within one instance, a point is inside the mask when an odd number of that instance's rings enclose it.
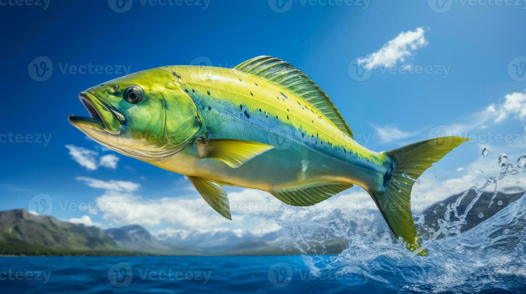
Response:
[[[227,192],[214,185],[205,178],[188,176],[188,180],[196,187],[206,203],[214,208],[220,215],[232,220],[230,216],[230,204],[228,203]]]

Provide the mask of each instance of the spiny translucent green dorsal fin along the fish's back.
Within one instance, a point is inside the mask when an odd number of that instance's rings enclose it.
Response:
[[[323,90],[296,67],[279,58],[258,56],[235,69],[278,85],[307,101],[323,113],[338,129],[352,138],[352,131]]]

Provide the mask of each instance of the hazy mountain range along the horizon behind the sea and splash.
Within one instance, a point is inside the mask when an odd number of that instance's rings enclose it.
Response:
[[[498,193],[490,205],[491,192],[484,192],[477,204],[468,212],[462,232],[476,226],[511,202],[519,199],[521,193]],[[447,204],[457,201],[461,194],[452,195],[444,201],[429,206],[424,212],[424,225],[436,227],[436,220],[444,218]],[[457,208],[465,211],[472,199],[468,193]],[[376,226],[381,233],[387,225],[380,212],[370,211],[369,217],[357,222],[347,220],[338,211],[322,220],[333,226],[360,228],[362,225]],[[432,216],[432,217],[430,217]],[[250,232],[215,230],[209,232],[175,230],[154,236],[140,225],[100,229],[95,226],[72,224],[53,216],[33,215],[25,209],[0,212],[0,255],[296,255],[296,254],[338,254],[347,248],[345,237],[327,238],[327,226],[311,228],[310,241],[298,244],[284,232],[284,229],[264,235]],[[438,227],[437,227],[438,228]]]

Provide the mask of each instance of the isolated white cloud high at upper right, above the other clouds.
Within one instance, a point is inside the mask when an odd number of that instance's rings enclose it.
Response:
[[[395,65],[398,61],[405,62],[414,55],[414,51],[428,45],[424,37],[425,30],[421,27],[414,31],[402,31],[396,38],[388,41],[375,53],[369,54],[368,59],[359,59],[360,64],[365,62],[366,69]]]

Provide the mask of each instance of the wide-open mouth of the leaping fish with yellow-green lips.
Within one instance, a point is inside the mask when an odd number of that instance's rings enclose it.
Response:
[[[88,128],[102,128],[112,134],[118,134],[120,132],[120,121],[124,120],[124,116],[121,113],[110,109],[102,101],[86,91],[80,93],[78,98],[88,111],[89,118],[74,116],[72,114],[68,117],[69,123],[83,132]]]

